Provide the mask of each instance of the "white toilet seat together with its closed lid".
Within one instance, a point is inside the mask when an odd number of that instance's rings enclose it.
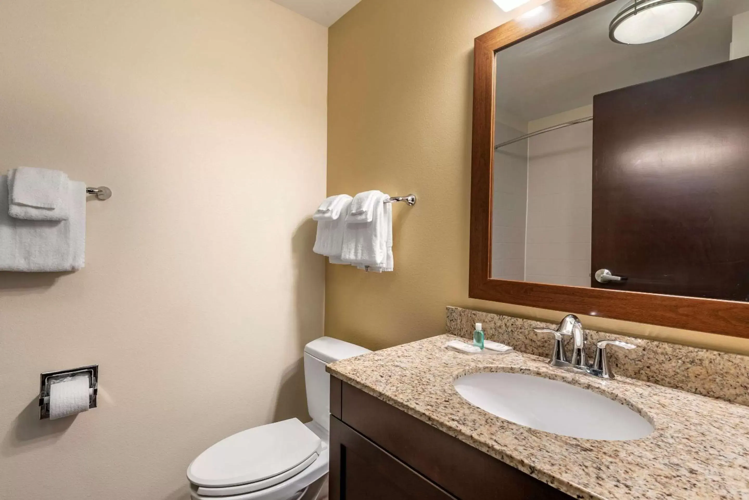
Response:
[[[287,500],[328,471],[327,433],[297,418],[211,446],[187,469],[193,500]],[[321,439],[326,438],[326,439]]]

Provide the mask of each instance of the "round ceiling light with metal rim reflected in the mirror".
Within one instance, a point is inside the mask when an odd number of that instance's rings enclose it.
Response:
[[[632,0],[614,16],[609,37],[627,45],[655,42],[697,19],[702,8],[703,0]]]

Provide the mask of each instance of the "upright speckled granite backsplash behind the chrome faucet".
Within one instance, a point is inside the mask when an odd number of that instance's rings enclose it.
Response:
[[[482,323],[489,340],[510,345],[524,353],[547,358],[551,356],[554,339],[551,335],[533,332],[533,329],[556,329],[556,324],[470,309],[447,308],[446,333],[471,338],[474,323]],[[595,355],[595,342],[607,338],[637,346],[633,350],[616,347],[607,349],[614,374],[749,406],[749,356],[595,330],[586,332],[589,359]],[[571,340],[568,339],[567,353],[571,352]]]

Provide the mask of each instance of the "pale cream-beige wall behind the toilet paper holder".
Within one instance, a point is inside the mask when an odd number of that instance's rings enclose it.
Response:
[[[267,0],[4,0],[0,75],[0,170],[114,192],[85,269],[0,273],[0,499],[186,499],[204,448],[306,416],[327,29]],[[94,363],[100,407],[38,421],[40,372]]]

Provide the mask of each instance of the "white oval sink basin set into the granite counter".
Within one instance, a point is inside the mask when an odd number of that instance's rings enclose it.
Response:
[[[489,413],[560,436],[622,441],[653,431],[627,406],[559,380],[486,373],[461,376],[454,384],[458,394]]]

